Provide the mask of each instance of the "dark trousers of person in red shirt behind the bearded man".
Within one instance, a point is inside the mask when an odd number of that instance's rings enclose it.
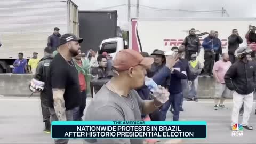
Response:
[[[84,109],[86,107],[86,91],[81,92],[81,104],[73,109],[73,121],[82,121],[84,115]]]

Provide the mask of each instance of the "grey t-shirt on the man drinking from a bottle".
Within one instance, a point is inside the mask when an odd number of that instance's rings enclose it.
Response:
[[[129,94],[131,98],[129,96],[120,97],[104,85],[88,106],[85,121],[142,121],[141,111],[144,107],[144,101],[135,90],[131,90]],[[132,101],[134,103],[133,109]],[[85,141],[99,144],[143,143],[143,139],[85,139]]]

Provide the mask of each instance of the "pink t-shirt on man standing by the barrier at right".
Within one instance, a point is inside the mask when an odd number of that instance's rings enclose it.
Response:
[[[227,71],[231,65],[232,65],[232,63],[230,61],[225,62],[223,60],[219,60],[219,61],[215,62],[214,66],[213,66],[213,70],[216,71],[217,77],[219,78],[219,80],[222,84],[225,84],[224,76],[227,73]]]

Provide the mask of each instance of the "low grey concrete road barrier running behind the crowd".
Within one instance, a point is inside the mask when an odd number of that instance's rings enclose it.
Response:
[[[0,74],[0,95],[28,96],[31,92],[28,84],[33,74]],[[209,76],[199,76],[198,98],[212,99],[215,95],[215,79]],[[39,94],[34,94],[39,95]],[[230,93],[229,98],[232,98]],[[90,97],[91,94],[88,95]],[[255,97],[255,95],[254,95]]]

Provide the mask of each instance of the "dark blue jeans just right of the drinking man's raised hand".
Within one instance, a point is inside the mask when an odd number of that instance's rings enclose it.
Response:
[[[181,99],[183,99],[183,94],[182,92],[180,93],[175,93],[175,94],[170,94],[169,100],[164,103],[161,109],[162,113],[162,121],[165,121],[167,111],[169,110],[170,105],[172,104],[173,106],[173,121],[179,121],[179,116],[180,116],[180,103]]]

